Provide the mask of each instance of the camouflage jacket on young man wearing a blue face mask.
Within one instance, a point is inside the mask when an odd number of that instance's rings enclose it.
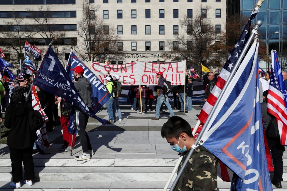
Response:
[[[182,167],[189,151],[183,156],[178,171]],[[175,190],[217,190],[217,163],[218,159],[213,154],[203,146],[199,146],[191,155]]]

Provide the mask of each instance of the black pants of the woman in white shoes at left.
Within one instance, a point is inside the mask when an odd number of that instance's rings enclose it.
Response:
[[[25,179],[34,179],[33,146],[25,149],[14,149],[9,146],[12,167],[12,177],[14,182],[23,179],[22,162],[25,170]]]

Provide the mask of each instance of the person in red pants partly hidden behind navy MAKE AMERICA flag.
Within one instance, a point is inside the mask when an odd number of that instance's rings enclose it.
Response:
[[[75,134],[70,134],[68,131],[68,126],[69,126],[69,119],[70,115],[72,112],[72,102],[67,101],[65,99],[62,99],[60,97],[56,97],[55,99],[55,105],[58,105],[60,103],[60,123],[62,126],[63,130],[63,141],[64,144],[58,148],[59,151],[65,150],[66,152],[70,152],[72,148],[75,146],[75,139],[76,135]],[[72,138],[73,137],[73,138]],[[73,142],[72,142],[73,139]]]

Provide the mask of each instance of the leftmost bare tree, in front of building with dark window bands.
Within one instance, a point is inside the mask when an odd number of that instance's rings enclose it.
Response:
[[[24,59],[24,48],[26,36],[32,36],[34,33],[28,31],[23,18],[12,13],[12,21],[4,20],[5,26],[1,27],[0,44],[4,52],[9,52],[10,61],[16,68],[19,67],[19,60]]]

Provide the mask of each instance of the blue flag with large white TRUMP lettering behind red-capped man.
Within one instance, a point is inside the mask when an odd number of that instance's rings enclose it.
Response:
[[[66,71],[71,80],[74,80],[73,71],[71,71],[71,69],[76,66],[81,66],[84,69],[84,76],[91,82],[92,110],[94,113],[97,113],[112,95],[107,91],[107,88],[102,81],[84,63],[82,63],[73,52],[71,52],[66,67]]]

